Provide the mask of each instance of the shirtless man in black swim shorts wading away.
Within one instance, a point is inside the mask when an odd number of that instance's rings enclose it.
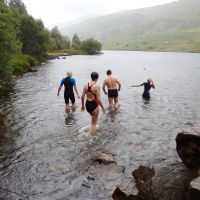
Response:
[[[107,78],[103,82],[103,91],[108,94],[109,107],[112,107],[113,100],[115,109],[119,107],[118,91],[121,89],[121,83],[119,80],[112,75],[111,70],[107,70]],[[106,92],[105,87],[108,88],[108,93]]]

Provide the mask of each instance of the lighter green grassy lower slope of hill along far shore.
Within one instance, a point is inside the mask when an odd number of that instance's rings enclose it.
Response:
[[[112,41],[104,49],[143,51],[200,52],[200,30],[137,35],[118,42]]]

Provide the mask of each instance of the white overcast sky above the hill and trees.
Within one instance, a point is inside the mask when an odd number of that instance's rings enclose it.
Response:
[[[28,13],[42,19],[47,27],[172,1],[176,0],[23,0]]]

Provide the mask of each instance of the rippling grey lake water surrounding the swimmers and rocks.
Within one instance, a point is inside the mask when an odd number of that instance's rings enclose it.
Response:
[[[92,71],[102,84],[107,69],[122,83],[121,105],[117,112],[101,112],[97,137],[85,137],[80,129],[89,124],[88,113],[77,100],[78,109],[67,116],[57,88],[71,70],[81,93]],[[149,102],[142,100],[142,87],[130,87],[147,77],[156,86]],[[200,123],[199,88],[200,54],[105,51],[38,66],[13,80],[0,100],[0,199],[111,199],[120,175],[98,166],[95,180],[87,179],[91,154],[103,148],[116,154],[126,177],[139,165],[153,166],[159,198],[181,200],[192,175],[177,156],[175,138]]]

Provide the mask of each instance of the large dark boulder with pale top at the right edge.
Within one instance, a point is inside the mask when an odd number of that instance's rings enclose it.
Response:
[[[178,133],[176,150],[182,162],[189,168],[200,168],[200,127],[194,126]]]

